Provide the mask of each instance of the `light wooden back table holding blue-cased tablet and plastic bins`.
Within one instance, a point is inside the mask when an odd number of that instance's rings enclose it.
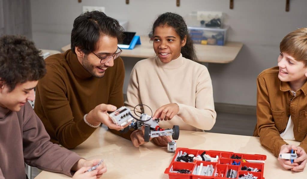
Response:
[[[122,49],[120,56],[150,58],[155,56],[153,42],[149,37],[140,36],[141,45],[135,45],[134,49]],[[243,44],[241,42],[227,42],[224,46],[220,45],[200,45],[195,44],[196,55],[200,62],[207,63],[229,63],[235,60]],[[62,51],[70,49],[70,44],[62,47]]]

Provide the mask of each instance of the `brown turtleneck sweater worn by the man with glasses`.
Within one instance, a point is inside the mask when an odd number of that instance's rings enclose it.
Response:
[[[71,50],[49,56],[46,68],[47,74],[37,84],[34,110],[53,143],[75,148],[95,131],[84,122],[85,114],[101,103],[124,105],[125,69],[120,57],[103,78],[92,76]],[[124,137],[130,139],[129,134]]]

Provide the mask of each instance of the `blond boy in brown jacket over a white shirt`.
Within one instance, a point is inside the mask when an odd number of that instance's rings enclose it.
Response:
[[[278,66],[257,78],[257,124],[254,136],[274,156],[297,150],[293,163],[278,158],[285,169],[303,171],[307,149],[307,28],[287,34],[280,42]],[[284,140],[300,141],[299,146]]]

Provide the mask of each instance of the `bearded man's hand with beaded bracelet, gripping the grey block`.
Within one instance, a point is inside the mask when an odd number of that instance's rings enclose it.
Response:
[[[113,123],[107,111],[115,111],[116,107],[111,104],[99,104],[93,110],[91,110],[86,116],[86,120],[88,123],[92,125],[98,125],[99,123],[103,123],[108,126],[110,129],[115,130],[123,130],[125,127],[129,126],[130,123],[125,126],[118,126]]]

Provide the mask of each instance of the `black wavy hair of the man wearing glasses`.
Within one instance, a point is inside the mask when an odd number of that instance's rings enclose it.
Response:
[[[101,35],[116,37],[118,42],[124,38],[124,29],[116,19],[108,17],[103,12],[85,12],[74,21],[71,35],[71,49],[76,54],[75,47],[83,53],[95,51]]]

